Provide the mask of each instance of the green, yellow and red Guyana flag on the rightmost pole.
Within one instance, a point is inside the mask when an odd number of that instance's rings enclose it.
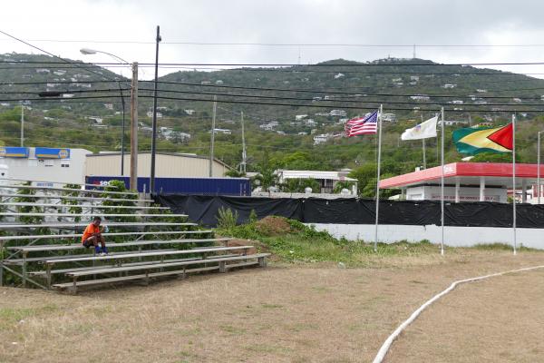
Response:
[[[497,128],[458,129],[453,132],[458,152],[476,155],[481,152],[512,152],[512,124]]]

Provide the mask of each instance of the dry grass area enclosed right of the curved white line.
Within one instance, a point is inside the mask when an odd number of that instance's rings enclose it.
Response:
[[[543,280],[544,269],[462,285],[425,310],[385,361],[544,361]]]

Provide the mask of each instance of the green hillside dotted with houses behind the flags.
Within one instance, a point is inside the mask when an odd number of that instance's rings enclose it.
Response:
[[[117,81],[121,78],[117,74],[91,64],[62,64],[45,55],[0,54],[0,62],[0,142],[20,143],[20,103],[24,102],[26,145],[119,151],[121,86],[126,100],[125,145],[129,145],[130,83]],[[152,87],[150,82],[139,83],[141,150],[151,148],[151,117],[147,113]],[[400,134],[441,106],[446,109],[446,120],[471,124],[508,123],[510,114],[517,111],[520,161],[535,162],[542,121],[539,110],[544,105],[544,80],[421,59],[190,70],[160,77],[159,90],[159,127],[165,128],[160,133],[159,151],[209,154],[211,101],[217,94],[217,127],[231,133],[216,135],[216,156],[233,167],[241,161],[243,112],[249,171],[263,168],[263,163],[291,169],[371,168],[375,136],[346,139],[341,136],[341,121],[376,109],[380,103],[384,113],[394,114],[390,117],[397,120],[384,122],[385,174],[412,171],[422,165],[422,142],[400,142]],[[61,95],[51,101],[37,94],[45,91]],[[63,94],[73,96],[65,98]],[[418,96],[428,99],[417,100]],[[302,114],[307,116],[296,120],[296,115]],[[269,130],[262,128],[270,124]],[[461,126],[447,127],[448,162],[462,157],[451,142],[456,127]],[[190,139],[177,132],[189,133]],[[327,134],[327,142],[314,145],[317,134]],[[436,165],[437,160],[436,141],[428,140],[428,166]]]

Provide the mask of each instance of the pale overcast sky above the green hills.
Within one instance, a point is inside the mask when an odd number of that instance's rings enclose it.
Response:
[[[440,63],[540,62],[543,14],[539,0],[18,0],[3,2],[0,30],[88,62],[114,60],[82,55],[82,47],[153,63],[157,25],[160,63],[297,64],[299,57],[302,64],[364,62],[412,57],[412,44],[420,44],[418,58]],[[241,45],[248,43],[303,45]],[[497,46],[528,44],[533,46]],[[40,53],[0,34],[0,53],[11,52]],[[490,67],[544,74],[544,65]],[[141,69],[141,78],[152,78],[152,68]],[[122,73],[128,76],[129,70]]]

